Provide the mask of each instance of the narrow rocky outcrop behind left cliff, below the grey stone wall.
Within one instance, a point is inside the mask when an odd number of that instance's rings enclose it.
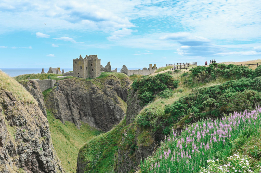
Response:
[[[21,84],[25,87],[25,89],[33,96],[33,98],[38,102],[38,106],[43,112],[44,116],[47,117],[46,108],[44,104],[44,96],[41,92],[40,86],[38,82],[31,81],[22,81]]]

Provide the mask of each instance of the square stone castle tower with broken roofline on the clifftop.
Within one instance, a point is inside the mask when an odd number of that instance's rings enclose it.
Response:
[[[79,78],[97,78],[100,76],[101,66],[97,55],[89,55],[73,60],[73,76]]]

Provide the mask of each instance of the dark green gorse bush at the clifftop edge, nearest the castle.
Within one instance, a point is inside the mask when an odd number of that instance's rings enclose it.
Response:
[[[140,105],[146,106],[156,95],[171,97],[172,89],[177,88],[179,80],[175,80],[169,73],[160,73],[155,76],[144,76],[137,78],[132,84],[134,92],[138,92]],[[162,91],[166,91],[161,93]],[[161,94],[159,94],[161,93]]]

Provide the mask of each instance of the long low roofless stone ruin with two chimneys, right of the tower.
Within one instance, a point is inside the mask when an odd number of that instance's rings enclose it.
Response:
[[[150,67],[148,69],[146,67],[144,67],[142,70],[141,69],[129,70],[125,65],[123,65],[122,69],[121,69],[121,73],[124,73],[127,76],[131,76],[133,74],[149,75],[149,74],[154,73],[156,69],[157,69],[156,64],[154,64],[154,66],[152,66],[152,64],[150,64]]]

